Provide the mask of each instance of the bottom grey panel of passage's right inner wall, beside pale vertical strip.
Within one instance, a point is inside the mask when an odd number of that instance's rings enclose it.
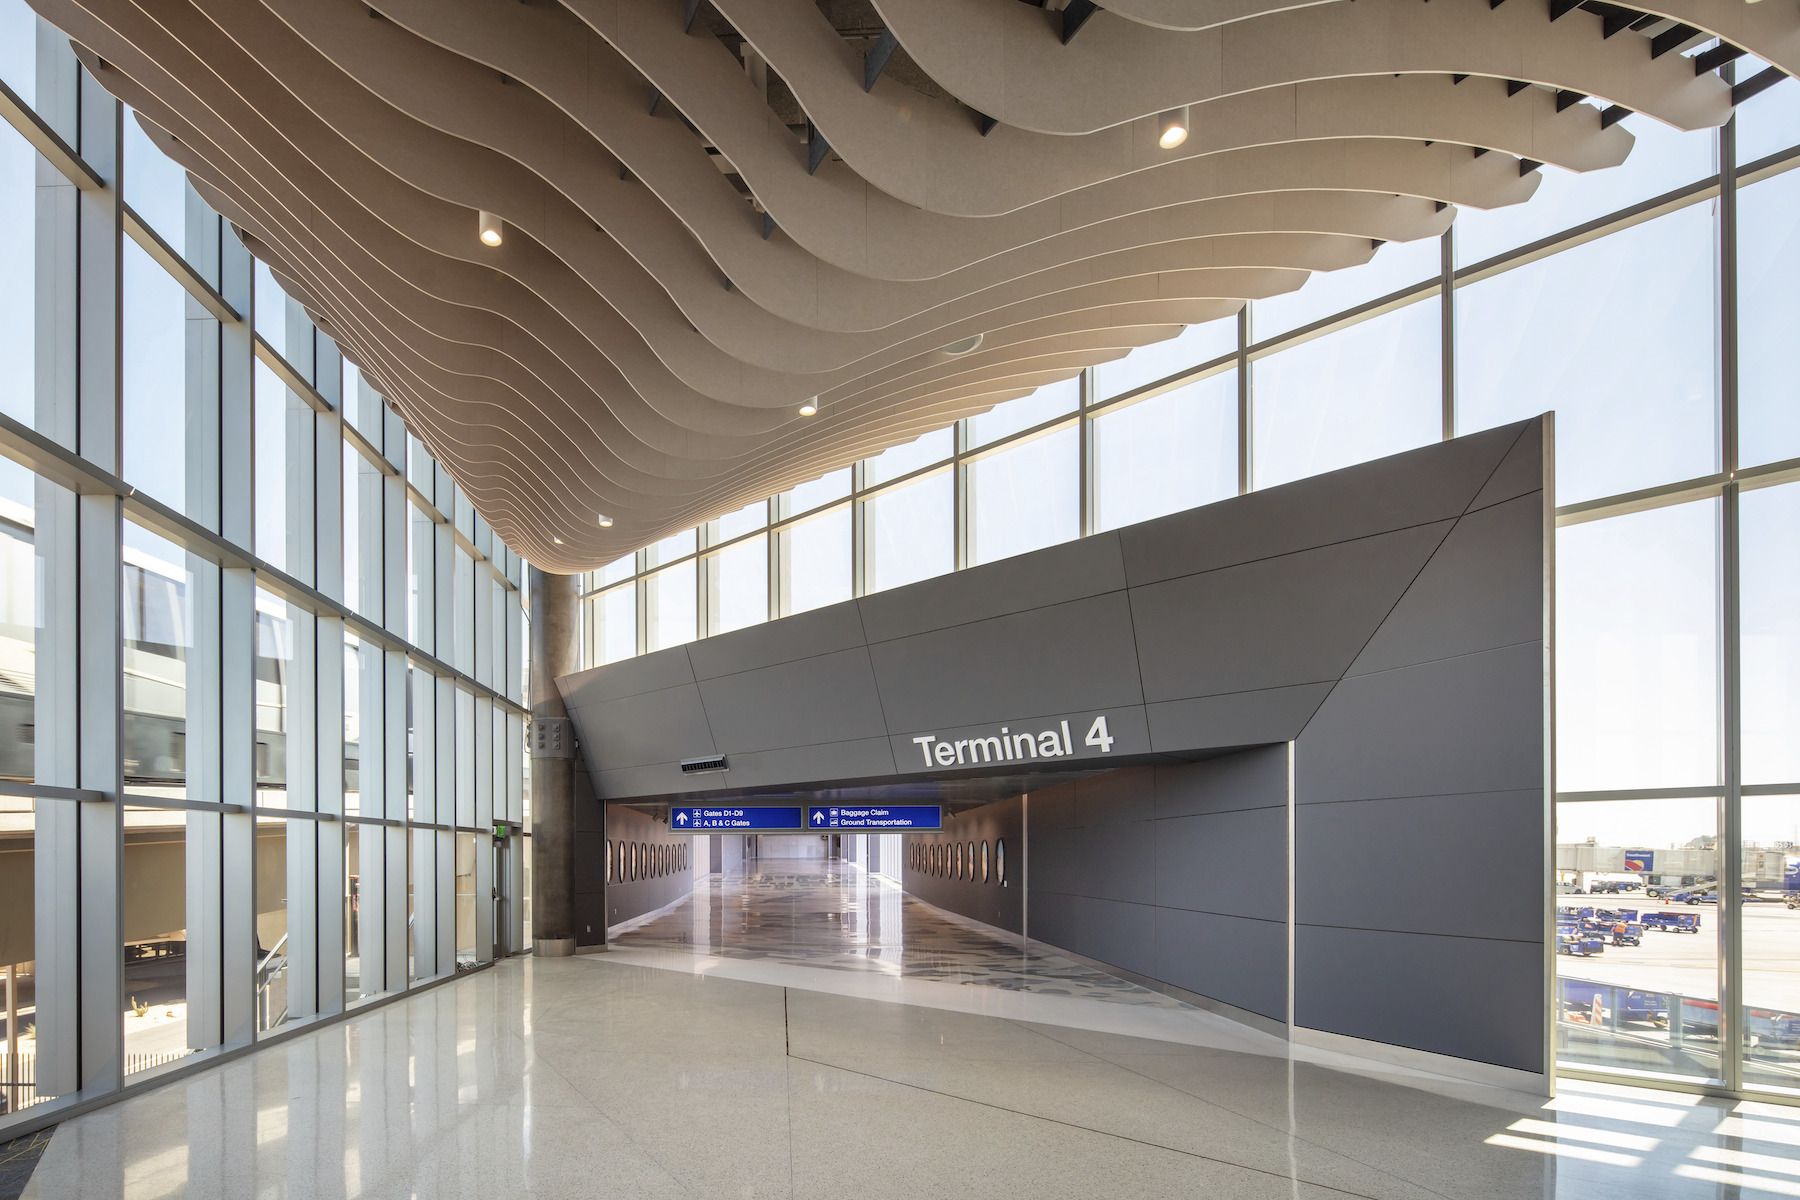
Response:
[[[1217,912],[1156,912],[1152,979],[1287,1020],[1287,921]]]

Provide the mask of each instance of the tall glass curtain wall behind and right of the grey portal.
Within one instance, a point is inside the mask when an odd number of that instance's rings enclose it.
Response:
[[[1622,167],[592,572],[585,662],[1555,410],[1559,1060],[1800,1094],[1800,85],[1625,126]]]

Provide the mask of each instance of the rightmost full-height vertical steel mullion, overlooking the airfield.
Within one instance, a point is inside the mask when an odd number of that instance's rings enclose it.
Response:
[[[1726,65],[1724,79],[1735,77]],[[1719,745],[1724,795],[1719,820],[1719,1016],[1724,1087],[1744,1087],[1744,759],[1741,639],[1741,504],[1737,484],[1737,117],[1719,131]]]

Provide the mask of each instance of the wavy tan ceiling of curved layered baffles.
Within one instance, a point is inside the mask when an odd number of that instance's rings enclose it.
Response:
[[[31,4],[549,570],[1800,70],[1800,0]]]

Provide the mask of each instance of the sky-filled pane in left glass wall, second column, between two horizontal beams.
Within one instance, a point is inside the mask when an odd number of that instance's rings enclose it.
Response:
[[[187,437],[189,419],[207,403],[194,399],[189,414],[189,326],[196,353],[203,353],[211,317],[189,322],[187,291],[169,272],[144,254],[131,239],[124,243],[121,264],[124,279],[121,363],[121,450],[128,484],[162,500],[178,513],[187,511]],[[216,353],[216,351],[214,351]],[[205,387],[200,372],[193,387]],[[211,423],[202,425],[207,428]]]

